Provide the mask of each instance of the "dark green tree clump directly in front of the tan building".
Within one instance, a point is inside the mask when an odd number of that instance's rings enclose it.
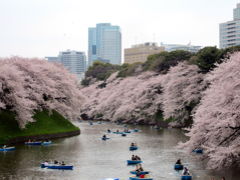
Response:
[[[191,52],[183,50],[164,51],[159,54],[150,55],[143,64],[143,70],[166,73],[171,66],[177,65],[180,61],[189,60],[192,56]]]

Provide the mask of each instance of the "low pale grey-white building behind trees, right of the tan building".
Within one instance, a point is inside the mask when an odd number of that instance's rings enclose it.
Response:
[[[201,46],[194,46],[189,44],[163,44],[161,43],[161,46],[165,48],[165,51],[171,52],[171,51],[176,51],[176,50],[184,50],[184,51],[189,51],[196,53],[198,52],[202,47]]]

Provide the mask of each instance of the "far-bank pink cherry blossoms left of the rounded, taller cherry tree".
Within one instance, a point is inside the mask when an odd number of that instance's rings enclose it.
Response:
[[[112,121],[151,123],[161,106],[162,79],[163,75],[153,72],[127,78],[117,78],[114,73],[106,87],[97,82],[81,90],[88,97],[82,113]]]

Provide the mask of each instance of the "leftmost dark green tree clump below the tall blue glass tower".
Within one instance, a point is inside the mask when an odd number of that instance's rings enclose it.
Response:
[[[103,63],[100,61],[95,61],[92,66],[90,66],[86,72],[86,78],[96,78],[97,80],[106,80],[113,72],[120,69],[119,65],[113,65],[109,63]],[[84,81],[82,84],[87,84],[89,82]]]

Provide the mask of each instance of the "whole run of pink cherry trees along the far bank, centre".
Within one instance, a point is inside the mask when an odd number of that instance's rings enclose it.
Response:
[[[203,75],[198,70],[196,65],[179,63],[167,75],[144,72],[117,78],[116,72],[105,82],[81,90],[88,97],[82,113],[113,121],[153,123],[154,116],[164,111],[165,119],[174,117],[184,126],[189,109],[201,97]]]

